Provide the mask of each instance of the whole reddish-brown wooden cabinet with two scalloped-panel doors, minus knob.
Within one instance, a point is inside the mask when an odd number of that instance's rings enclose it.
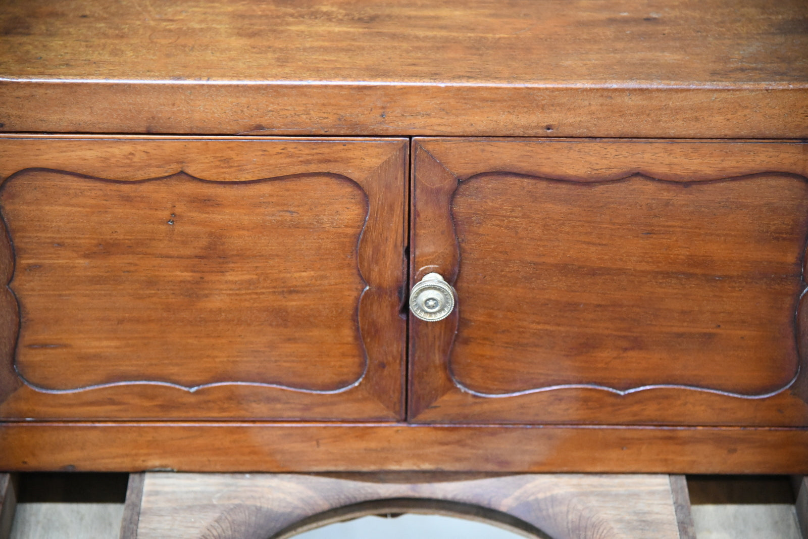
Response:
[[[0,470],[808,473],[805,2],[6,7]]]

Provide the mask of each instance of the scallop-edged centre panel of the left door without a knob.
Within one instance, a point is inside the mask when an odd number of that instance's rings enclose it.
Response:
[[[364,374],[356,244],[367,201],[349,179],[30,171],[6,180],[0,204],[23,319],[16,369],[30,385],[318,393]]]

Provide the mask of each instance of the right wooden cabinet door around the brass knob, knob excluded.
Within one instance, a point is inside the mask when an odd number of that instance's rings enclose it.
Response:
[[[808,146],[415,139],[419,422],[808,424]]]

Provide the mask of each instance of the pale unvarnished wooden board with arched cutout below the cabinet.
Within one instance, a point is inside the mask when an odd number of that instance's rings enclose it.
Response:
[[[401,512],[484,520],[528,537],[692,539],[677,518],[685,508],[689,516],[683,487],[667,475],[147,473],[137,539],[280,539]]]

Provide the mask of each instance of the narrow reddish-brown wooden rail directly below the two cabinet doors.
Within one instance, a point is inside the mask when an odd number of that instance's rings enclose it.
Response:
[[[0,423],[0,470],[806,474],[808,429]]]

